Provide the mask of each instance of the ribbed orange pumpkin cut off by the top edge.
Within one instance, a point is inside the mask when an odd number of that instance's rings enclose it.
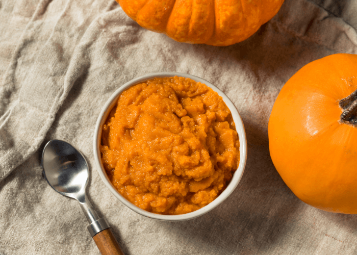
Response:
[[[179,42],[226,46],[271,19],[284,0],[116,0],[141,27]]]

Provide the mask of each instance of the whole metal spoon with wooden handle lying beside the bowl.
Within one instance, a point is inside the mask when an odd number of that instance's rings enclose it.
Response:
[[[89,222],[88,231],[101,254],[123,255],[105,218],[99,218],[86,195],[88,164],[77,149],[60,140],[49,141],[42,152],[42,168],[48,184],[58,193],[79,201]]]

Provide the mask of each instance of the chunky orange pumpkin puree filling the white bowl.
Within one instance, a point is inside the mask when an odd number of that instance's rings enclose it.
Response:
[[[103,125],[100,151],[121,195],[167,215],[208,205],[239,164],[235,123],[222,97],[182,77],[122,92]]]

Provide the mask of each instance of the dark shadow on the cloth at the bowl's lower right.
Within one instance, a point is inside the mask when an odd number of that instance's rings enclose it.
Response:
[[[164,222],[176,240],[186,243],[187,254],[253,253],[274,247],[287,235],[292,216],[304,205],[275,170],[268,137],[246,122],[248,158],[236,190],[211,212],[193,220]],[[199,247],[197,247],[199,245]],[[185,249],[185,247],[183,247]]]

